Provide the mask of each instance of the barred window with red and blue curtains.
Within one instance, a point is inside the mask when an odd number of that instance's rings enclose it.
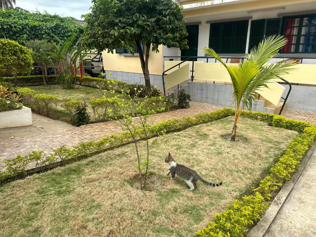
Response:
[[[283,53],[316,52],[316,15],[283,19],[282,33],[288,40]]]

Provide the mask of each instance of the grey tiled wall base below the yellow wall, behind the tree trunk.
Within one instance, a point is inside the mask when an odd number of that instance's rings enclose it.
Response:
[[[106,78],[110,78],[110,72],[113,80],[126,82],[128,84],[141,83],[145,85],[145,79],[143,73],[133,73],[133,72],[121,72],[121,71],[110,71],[106,70]],[[162,76],[161,75],[149,75],[150,84],[157,87],[159,90],[163,90],[162,86]]]

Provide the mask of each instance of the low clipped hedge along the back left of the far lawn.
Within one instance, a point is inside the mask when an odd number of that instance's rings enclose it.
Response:
[[[41,86],[44,85],[43,75],[38,76],[18,76],[18,84],[20,86]],[[14,76],[3,76],[0,77],[0,82],[7,82],[10,85],[14,85]],[[56,81],[56,75],[47,76],[47,84],[59,84],[59,81]]]

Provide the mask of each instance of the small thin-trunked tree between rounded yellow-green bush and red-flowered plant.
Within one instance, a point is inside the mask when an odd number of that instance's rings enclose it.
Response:
[[[52,52],[55,49],[55,47],[53,46],[52,43],[47,42],[46,40],[29,40],[25,43],[25,46],[32,49],[33,61],[35,63],[37,63],[37,65],[39,67],[42,68],[43,80],[44,80],[44,84],[46,86],[46,80],[45,80],[44,75],[47,76],[46,67],[51,62],[50,62],[50,60],[43,58],[42,54],[43,54],[43,52]]]

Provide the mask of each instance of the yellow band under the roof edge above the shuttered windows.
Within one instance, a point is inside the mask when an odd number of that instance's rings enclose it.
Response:
[[[192,2],[185,2],[182,5],[194,3]],[[198,1],[199,2],[199,1]],[[203,2],[203,1],[201,1]],[[251,2],[241,2],[234,4],[224,4],[224,5],[210,5],[208,7],[199,8],[199,9],[185,9],[182,13],[185,17],[192,17],[192,16],[200,16],[200,15],[210,15],[210,14],[221,14],[227,12],[237,12],[237,11],[245,11],[245,10],[252,10],[252,9],[260,9],[260,8],[271,8],[276,6],[286,6],[289,4],[295,3],[308,3],[312,2],[311,0],[258,0],[258,1],[251,1]]]

